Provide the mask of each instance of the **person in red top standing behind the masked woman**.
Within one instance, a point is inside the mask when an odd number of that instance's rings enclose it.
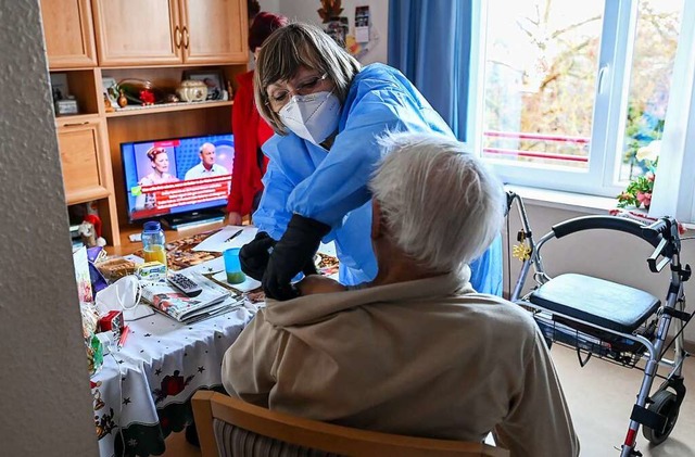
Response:
[[[249,29],[249,49],[254,56],[270,34],[289,24],[282,15],[261,12]],[[268,158],[261,145],[275,132],[258,114],[253,100],[253,71],[237,77],[239,88],[235,96],[231,129],[235,135],[235,162],[231,174],[231,193],[227,201],[227,223],[241,225],[242,217],[250,215],[258,206]]]

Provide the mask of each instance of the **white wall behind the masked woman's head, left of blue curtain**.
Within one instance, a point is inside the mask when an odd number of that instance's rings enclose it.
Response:
[[[264,8],[266,3],[271,3],[271,0],[264,0],[261,2],[261,7]],[[321,26],[321,18],[319,17],[317,10],[321,8],[321,3],[318,0],[276,0],[279,10],[266,10],[276,12],[288,16],[292,21],[313,23]],[[268,5],[269,7],[269,5]],[[382,62],[387,63],[388,47],[387,38],[389,36],[389,0],[343,0],[342,1],[342,16],[348,17],[350,24],[349,34],[355,33],[355,7],[369,7],[371,34],[378,34],[379,40],[375,43],[374,48],[369,50],[361,62],[363,65]],[[323,28],[323,27],[321,27]]]

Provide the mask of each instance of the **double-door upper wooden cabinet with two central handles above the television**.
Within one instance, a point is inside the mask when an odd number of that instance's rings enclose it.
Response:
[[[243,63],[245,1],[92,0],[101,66]]]

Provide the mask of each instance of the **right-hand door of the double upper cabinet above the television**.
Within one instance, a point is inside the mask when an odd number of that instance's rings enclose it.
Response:
[[[245,63],[245,0],[179,0],[184,27],[184,62]]]

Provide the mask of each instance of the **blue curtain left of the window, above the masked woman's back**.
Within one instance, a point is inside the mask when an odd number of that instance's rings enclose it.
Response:
[[[466,140],[471,0],[392,0],[389,65],[399,68]]]

